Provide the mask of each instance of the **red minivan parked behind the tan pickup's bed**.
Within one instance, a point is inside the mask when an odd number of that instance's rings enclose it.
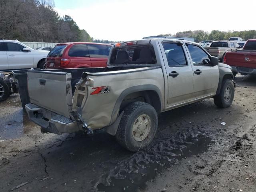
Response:
[[[49,69],[105,67],[111,46],[88,42],[60,43],[49,52],[45,67]]]

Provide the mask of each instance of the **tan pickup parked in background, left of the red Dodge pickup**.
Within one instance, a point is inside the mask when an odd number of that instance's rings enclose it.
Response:
[[[210,44],[210,47],[206,47],[206,50],[210,53],[211,56],[218,57],[218,59],[223,62],[226,52],[239,48],[241,48],[241,46],[233,41],[213,41]]]

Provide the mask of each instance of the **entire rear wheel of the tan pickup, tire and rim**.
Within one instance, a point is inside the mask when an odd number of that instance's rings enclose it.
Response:
[[[156,110],[144,102],[132,102],[124,108],[116,140],[126,149],[136,152],[148,146],[158,126]]]

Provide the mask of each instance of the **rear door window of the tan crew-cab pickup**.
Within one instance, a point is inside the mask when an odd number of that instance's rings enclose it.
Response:
[[[181,44],[164,43],[164,52],[166,54],[169,67],[188,65]]]

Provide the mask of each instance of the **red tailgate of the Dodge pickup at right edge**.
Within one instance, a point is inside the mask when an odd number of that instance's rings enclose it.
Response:
[[[237,67],[256,68],[256,52],[232,51],[226,54],[226,64]]]

